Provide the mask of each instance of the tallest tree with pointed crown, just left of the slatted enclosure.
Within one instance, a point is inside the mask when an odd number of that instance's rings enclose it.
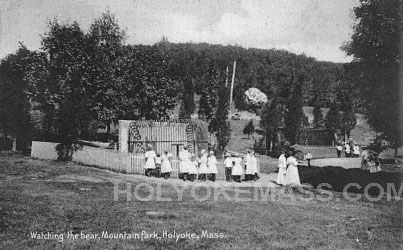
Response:
[[[85,77],[89,83],[87,91],[92,93],[90,109],[98,121],[107,125],[109,132],[109,125],[117,122],[119,114],[118,86],[125,64],[122,60],[125,32],[108,10],[91,24],[87,39],[90,60]]]

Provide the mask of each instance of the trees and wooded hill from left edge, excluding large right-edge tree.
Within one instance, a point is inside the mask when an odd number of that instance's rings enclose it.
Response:
[[[328,107],[341,98],[335,94],[344,74],[341,64],[281,50],[173,44],[166,38],[150,46],[125,45],[125,32],[114,15],[106,12],[87,32],[76,22],[53,20],[42,36],[40,51],[22,48],[2,61],[5,73],[0,78],[4,90],[0,101],[6,103],[0,110],[2,129],[12,132],[17,125],[23,126],[11,118],[14,106],[21,114],[34,107],[44,114],[45,135],[56,134],[72,143],[88,136],[93,121],[109,125],[119,119],[167,119],[178,103],[180,117],[188,118],[196,110],[197,96],[200,118],[212,123],[211,131],[221,138],[224,148],[229,138],[225,127],[229,125],[224,108],[228,89],[223,85],[225,77],[232,74],[228,66],[234,61],[236,107],[250,108],[244,102],[244,92],[250,87],[270,97],[265,107],[254,110],[262,114],[268,141],[284,127],[286,110],[290,118],[286,136],[296,142],[302,105]],[[300,76],[300,81],[295,76]],[[343,82],[346,88],[348,83]],[[13,100],[23,104],[9,100],[17,95],[21,98]]]

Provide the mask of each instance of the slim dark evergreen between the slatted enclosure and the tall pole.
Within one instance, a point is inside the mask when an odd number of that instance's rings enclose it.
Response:
[[[217,137],[218,149],[224,152],[231,138],[231,126],[228,120],[229,89],[222,82],[218,90],[218,105],[214,117],[209,124],[209,131]]]

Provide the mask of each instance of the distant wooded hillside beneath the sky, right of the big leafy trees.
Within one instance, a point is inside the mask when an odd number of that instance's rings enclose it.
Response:
[[[158,45],[171,58],[170,74],[183,79],[184,85],[193,84],[195,92],[203,88],[205,72],[212,64],[222,74],[229,66],[231,75],[233,61],[237,61],[234,102],[242,110],[248,109],[244,92],[250,87],[257,87],[265,94],[279,87],[289,98],[295,84],[293,74],[304,75],[301,86],[304,105],[313,105],[314,93],[317,93],[321,107],[329,107],[335,98],[333,89],[344,73],[342,64],[318,62],[305,55],[297,56],[281,50],[244,49],[204,43],[173,44],[167,40]]]

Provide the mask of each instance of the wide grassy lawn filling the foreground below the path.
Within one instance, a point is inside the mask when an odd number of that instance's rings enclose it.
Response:
[[[303,200],[306,194],[280,189],[271,190],[271,200],[252,187],[197,187],[13,155],[0,156],[0,178],[0,249],[403,249],[402,201],[352,202],[341,193]],[[115,182],[151,200],[120,194],[114,201]],[[157,201],[147,187],[172,201]],[[217,190],[225,195],[207,195]],[[80,239],[103,231],[189,232],[199,239]],[[31,232],[64,238],[32,239]],[[79,238],[67,239],[68,232]]]

